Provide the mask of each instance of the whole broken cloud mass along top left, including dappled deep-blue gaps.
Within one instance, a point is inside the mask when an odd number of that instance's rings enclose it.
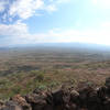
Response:
[[[0,0],[0,13],[3,22],[25,20],[42,14],[40,11],[53,12],[58,4],[70,0]]]

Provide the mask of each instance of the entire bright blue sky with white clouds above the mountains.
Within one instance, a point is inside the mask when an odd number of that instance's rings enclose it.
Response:
[[[0,46],[110,45],[110,0],[0,0]]]

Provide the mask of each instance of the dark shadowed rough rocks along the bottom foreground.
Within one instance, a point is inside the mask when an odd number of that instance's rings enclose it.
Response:
[[[7,102],[0,110],[110,110],[110,78],[100,88],[84,86],[77,91],[62,87],[55,91],[20,95]]]

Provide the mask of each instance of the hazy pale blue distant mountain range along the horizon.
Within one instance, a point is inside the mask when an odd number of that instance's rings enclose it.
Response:
[[[0,51],[6,51],[10,48],[21,48],[21,47],[74,47],[74,48],[88,48],[88,50],[110,50],[109,45],[101,44],[90,44],[90,43],[37,43],[37,44],[24,44],[15,46],[0,47]]]

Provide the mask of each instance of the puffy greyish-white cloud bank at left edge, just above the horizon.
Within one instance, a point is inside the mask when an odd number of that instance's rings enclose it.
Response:
[[[24,23],[0,24],[0,46],[22,44],[28,33],[28,26]]]

